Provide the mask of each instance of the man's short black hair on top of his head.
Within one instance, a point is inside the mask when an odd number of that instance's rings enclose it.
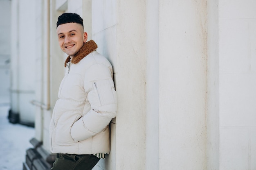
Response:
[[[67,24],[67,23],[77,23],[81,24],[83,26],[83,18],[80,17],[80,15],[76,13],[63,13],[58,17],[58,21],[56,23],[57,27],[61,24]]]

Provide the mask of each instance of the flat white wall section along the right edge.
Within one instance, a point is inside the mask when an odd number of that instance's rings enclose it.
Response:
[[[219,0],[220,170],[256,169],[255,9]]]

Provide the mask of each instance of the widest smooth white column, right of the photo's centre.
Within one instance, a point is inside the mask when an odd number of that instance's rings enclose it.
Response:
[[[159,169],[205,170],[207,2],[159,0]]]

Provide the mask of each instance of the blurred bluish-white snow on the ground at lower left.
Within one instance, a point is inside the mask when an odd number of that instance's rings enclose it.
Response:
[[[0,104],[0,170],[22,170],[26,150],[33,148],[29,140],[35,129],[9,123],[8,111],[9,105]]]

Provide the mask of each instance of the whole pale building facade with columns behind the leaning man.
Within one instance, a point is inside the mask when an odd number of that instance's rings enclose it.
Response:
[[[64,12],[83,17],[114,68],[111,153],[94,170],[256,169],[256,1],[0,3],[1,97],[36,130],[24,169],[54,161],[48,130],[67,57],[56,36]]]

